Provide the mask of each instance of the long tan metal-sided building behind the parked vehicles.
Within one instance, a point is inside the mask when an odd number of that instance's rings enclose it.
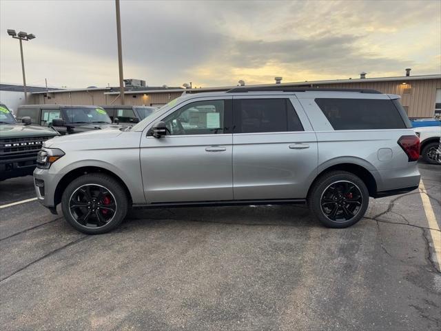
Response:
[[[335,79],[325,81],[300,81],[281,83],[281,77],[276,77],[278,86],[287,88],[363,88],[378,90],[382,93],[398,94],[401,103],[409,117],[441,116],[441,74],[412,76],[410,70],[400,77],[366,77],[365,72],[357,79]],[[185,93],[225,91],[236,86],[212,88],[178,88],[178,87],[149,87],[145,82],[127,83],[125,86],[125,103],[137,106],[162,106]],[[240,81],[240,83],[243,83]],[[256,86],[256,85],[255,85]],[[260,87],[274,86],[261,84]],[[28,103],[57,103],[63,105],[118,105],[119,88],[85,88],[68,90],[50,90],[32,92]]]

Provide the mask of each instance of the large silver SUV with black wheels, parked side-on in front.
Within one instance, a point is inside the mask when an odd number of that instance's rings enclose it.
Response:
[[[420,142],[398,96],[240,87],[186,94],[132,128],[45,142],[34,183],[74,228],[116,228],[130,206],[305,203],[324,225],[369,197],[418,188]]]

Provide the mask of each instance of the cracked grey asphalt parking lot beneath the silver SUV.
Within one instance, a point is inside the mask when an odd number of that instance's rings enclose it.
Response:
[[[343,230],[302,205],[267,205],[134,210],[86,236],[37,201],[1,208],[0,325],[440,330],[441,167],[420,171],[427,193],[372,199]],[[32,177],[0,182],[0,207],[33,197]]]

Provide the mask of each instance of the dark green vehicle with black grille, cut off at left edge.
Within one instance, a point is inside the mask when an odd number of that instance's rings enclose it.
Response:
[[[43,142],[57,135],[51,128],[30,126],[29,117],[17,123],[0,103],[0,181],[32,174]]]

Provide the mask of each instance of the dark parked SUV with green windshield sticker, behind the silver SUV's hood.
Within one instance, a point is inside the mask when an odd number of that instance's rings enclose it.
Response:
[[[64,134],[120,128],[98,106],[25,105],[17,108],[17,118],[30,117],[37,126],[52,126]]]

